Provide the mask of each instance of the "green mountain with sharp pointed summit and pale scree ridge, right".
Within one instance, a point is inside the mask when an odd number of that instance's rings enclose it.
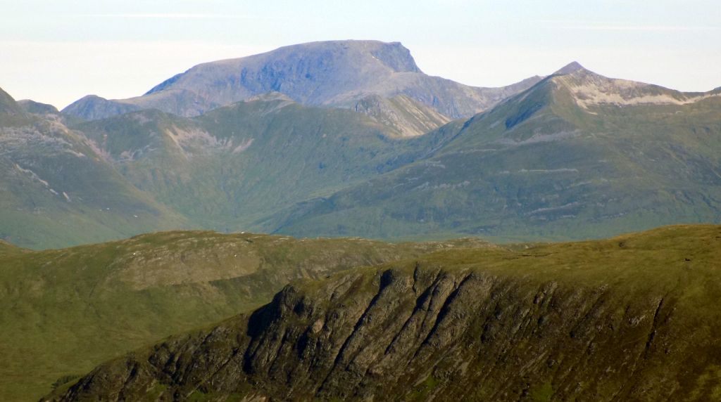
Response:
[[[721,96],[578,63],[463,124],[428,157],[280,211],[298,236],[603,237],[721,221]]]

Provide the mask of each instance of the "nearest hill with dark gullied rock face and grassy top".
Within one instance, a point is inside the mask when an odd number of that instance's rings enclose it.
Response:
[[[721,227],[448,250],[306,280],[43,401],[712,401]]]

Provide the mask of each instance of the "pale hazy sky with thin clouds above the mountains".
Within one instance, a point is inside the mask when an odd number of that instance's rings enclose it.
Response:
[[[719,0],[0,0],[0,87],[63,107],[195,64],[314,40],[400,41],[426,73],[500,86],[572,60],[684,91],[721,86]]]

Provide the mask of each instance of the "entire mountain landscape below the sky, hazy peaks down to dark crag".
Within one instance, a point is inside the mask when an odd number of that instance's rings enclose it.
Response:
[[[0,168],[0,400],[721,400],[721,88],[314,42],[0,90]]]

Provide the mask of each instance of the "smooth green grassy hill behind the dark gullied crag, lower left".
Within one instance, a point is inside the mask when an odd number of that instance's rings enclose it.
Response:
[[[37,400],[111,357],[267,303],[293,279],[477,245],[213,232],[45,252],[0,242],[0,396]]]

